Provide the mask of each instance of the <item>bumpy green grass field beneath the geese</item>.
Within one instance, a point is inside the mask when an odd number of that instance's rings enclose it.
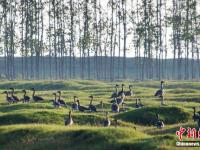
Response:
[[[122,82],[117,82],[121,84]],[[133,85],[135,95],[126,97],[125,112],[111,113],[110,95],[116,83],[103,81],[1,81],[0,93],[9,87],[16,89],[22,98],[22,89],[34,87],[36,95],[45,98],[44,102],[19,102],[7,104],[5,94],[0,94],[0,149],[2,150],[133,150],[133,149],[191,149],[175,146],[180,126],[197,127],[192,120],[192,107],[200,106],[200,82],[166,81],[165,102],[154,93],[160,87],[158,81],[124,82],[126,90]],[[68,106],[54,108],[52,93],[62,91],[62,99]],[[94,95],[96,113],[72,112],[74,124],[64,126],[73,96],[79,97],[81,105],[88,106],[89,95]],[[28,91],[31,96],[32,92]],[[144,108],[134,107],[135,98],[141,98]],[[104,103],[104,112],[100,109]],[[200,111],[200,108],[198,108]],[[105,111],[109,111],[110,127],[103,127]],[[155,111],[159,112],[165,128],[157,129]],[[118,119],[118,126],[113,125]],[[184,140],[188,140],[184,136]],[[192,140],[192,139],[189,139]],[[197,139],[200,140],[200,139]],[[195,149],[195,148],[193,148]],[[198,148],[196,148],[198,149]]]

